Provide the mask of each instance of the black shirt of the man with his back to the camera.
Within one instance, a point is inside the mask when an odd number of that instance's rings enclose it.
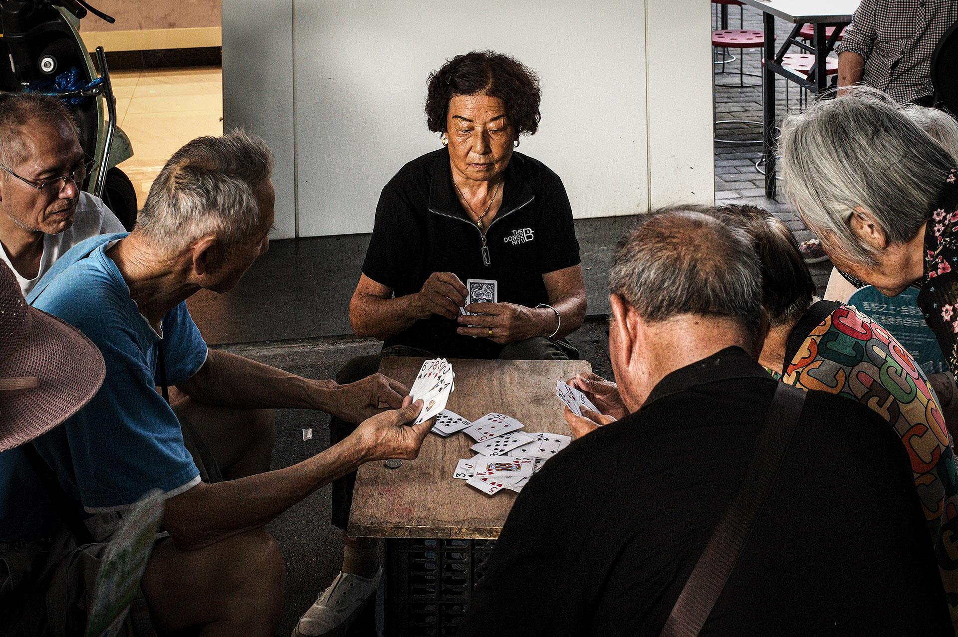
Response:
[[[556,454],[515,500],[459,637],[659,635],[745,479],[777,386],[729,347]],[[954,634],[887,421],[809,392],[701,634]]]

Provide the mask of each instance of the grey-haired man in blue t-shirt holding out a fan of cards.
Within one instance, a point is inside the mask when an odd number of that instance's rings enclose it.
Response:
[[[160,632],[198,626],[272,635],[285,569],[263,525],[364,462],[414,458],[432,424],[406,426],[422,403],[411,404],[405,388],[384,376],[340,386],[206,347],[185,301],[200,289],[231,289],[266,250],[271,170],[272,156],[255,136],[190,142],[160,172],[132,233],[80,242],[28,298],[97,345],[106,378],[83,409],[34,443],[76,511],[19,515],[49,507],[49,499],[20,454],[0,453],[0,542],[43,538],[52,529],[42,520],[63,516],[88,517],[94,538],[104,540],[124,511],[160,489],[170,537],[157,542],[142,585]],[[192,427],[184,421],[181,428],[155,389],[169,385],[200,405]],[[230,430],[196,418],[214,408],[279,407],[360,424],[298,465],[257,472],[246,462],[237,477],[236,466],[248,461],[248,450],[235,444],[246,438],[243,425]],[[213,460],[188,451],[184,433],[199,439],[196,447],[208,445]],[[201,480],[200,469],[212,474],[224,450],[236,461],[230,468],[237,479]]]

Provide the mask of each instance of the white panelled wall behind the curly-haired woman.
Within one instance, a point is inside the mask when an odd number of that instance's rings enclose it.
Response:
[[[371,231],[382,186],[405,162],[439,148],[422,111],[426,77],[473,49],[508,53],[539,75],[542,123],[520,150],[559,173],[575,216],[712,202],[707,5],[488,0],[460,7],[224,0],[224,124],[246,123],[279,147],[285,193],[295,165],[295,206],[278,199],[277,237],[294,236],[297,227],[301,237]],[[233,32],[267,34],[268,46]],[[263,94],[258,81],[267,76]]]

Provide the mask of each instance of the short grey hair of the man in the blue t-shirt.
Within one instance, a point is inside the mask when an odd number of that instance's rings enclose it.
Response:
[[[254,190],[273,171],[273,154],[256,135],[234,130],[197,137],[167,161],[149,189],[135,232],[170,252],[216,236],[229,253],[262,223]]]

